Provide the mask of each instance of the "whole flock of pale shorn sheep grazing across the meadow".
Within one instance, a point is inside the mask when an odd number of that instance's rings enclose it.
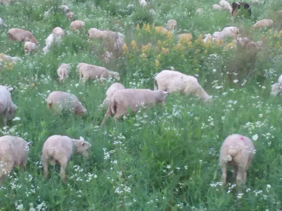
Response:
[[[1,0],[1,3],[6,2]],[[140,0],[140,5],[145,7],[147,2]],[[239,5],[239,6],[238,6]],[[242,2],[234,2],[232,7],[227,1],[220,1],[219,5],[213,5],[214,9],[227,9],[235,14],[234,10],[240,9]],[[245,7],[245,5],[243,5]],[[246,7],[245,7],[246,8]],[[247,9],[249,6],[247,7]],[[69,12],[69,8],[62,5],[61,9],[66,13],[66,17],[73,20],[74,13]],[[201,8],[197,10],[199,13]],[[7,27],[7,25],[0,18],[0,25]],[[269,19],[260,20],[254,24],[254,28],[264,28],[273,25],[273,21]],[[156,27],[156,30],[167,33],[168,30],[175,30],[177,27],[176,20],[169,20],[167,27]],[[83,30],[85,31],[85,24],[80,20],[75,20],[70,24],[70,28],[73,31]],[[27,30],[11,28],[8,30],[10,41],[25,42],[24,51],[31,53],[38,51],[37,39]],[[62,28],[56,27],[53,32],[46,39],[46,46],[42,49],[44,54],[55,43],[60,43],[62,37],[65,35]],[[125,45],[125,36],[119,32],[113,32],[110,30],[99,30],[91,28],[88,30],[88,36],[91,39],[102,39],[109,51],[106,52],[103,59],[107,61],[110,59],[113,51],[121,52]],[[178,38],[183,36],[189,36],[189,34],[180,34]],[[222,40],[226,37],[235,37],[238,44],[252,43],[256,46],[260,46],[260,42],[254,43],[248,38],[241,38],[240,31],[237,27],[226,27],[221,32],[214,32],[213,35],[207,34],[204,42]],[[8,55],[1,55],[1,61],[13,62],[18,60],[18,57],[10,57]],[[63,82],[69,74],[70,67],[68,64],[61,64],[58,67],[57,73],[59,82]],[[106,78],[112,77],[116,80],[120,80],[120,75],[117,72],[107,70],[104,67],[96,65],[79,63],[76,67],[77,73],[80,75],[80,80],[85,82],[86,80],[98,79],[101,84],[104,83]],[[278,79],[278,83],[272,85],[271,94],[278,95],[282,90],[282,75]],[[13,118],[17,106],[12,102],[11,88],[6,86],[0,86],[0,115],[3,115],[3,123],[7,125],[7,115],[9,118]],[[103,105],[107,107],[106,115],[101,123],[104,125],[106,120],[113,114],[113,119],[116,121],[118,118],[128,113],[128,108],[132,112],[137,112],[144,107],[153,108],[156,104],[165,105],[165,101],[168,93],[180,92],[185,95],[198,96],[203,102],[213,102],[213,97],[207,94],[207,92],[200,86],[197,78],[189,75],[185,75],[178,71],[162,70],[155,76],[154,90],[150,89],[135,89],[125,88],[121,83],[113,83],[106,92],[106,98]],[[87,110],[83,107],[79,99],[70,93],[62,91],[53,91],[46,99],[47,108],[53,109],[54,112],[66,112],[75,113],[77,115],[87,115]],[[29,153],[29,145],[31,142],[26,142],[20,137],[15,136],[2,136],[0,137],[0,184],[15,166],[19,166],[20,170],[23,170]],[[42,163],[44,167],[44,175],[48,176],[48,162],[51,165],[60,166],[60,174],[62,181],[66,180],[65,170],[66,165],[74,152],[82,154],[84,157],[88,157],[88,150],[91,148],[91,144],[85,141],[82,137],[79,140],[72,139],[67,136],[54,135],[47,138],[42,149]],[[233,134],[228,136],[220,151],[220,166],[222,170],[221,181],[223,184],[226,182],[226,166],[232,165],[234,167],[233,177],[236,180],[238,190],[241,191],[242,183],[246,181],[246,171],[251,164],[255,154],[255,148],[252,141],[245,136]]]

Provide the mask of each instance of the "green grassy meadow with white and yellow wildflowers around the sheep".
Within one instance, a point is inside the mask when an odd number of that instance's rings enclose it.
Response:
[[[70,21],[58,8],[61,4],[85,22],[85,33],[69,30]],[[213,4],[218,1],[148,0],[145,8],[137,0],[19,0],[0,5],[0,17],[8,25],[0,27],[0,53],[21,57],[15,64],[3,63],[0,71],[0,84],[14,88],[12,100],[19,107],[7,127],[0,121],[0,136],[33,141],[24,173],[15,169],[0,187],[0,211],[282,210],[282,98],[270,95],[271,85],[282,74],[278,34],[282,21],[277,15],[282,2],[251,4],[250,18],[234,19],[227,11],[213,11]],[[51,7],[53,12],[45,18]],[[199,7],[204,9],[201,15],[195,13]],[[251,29],[265,18],[274,21],[273,28]],[[154,27],[165,26],[169,19],[177,20],[176,32],[155,33]],[[57,26],[66,35],[44,56],[45,39]],[[232,39],[224,44],[202,43],[206,33],[227,26],[237,26],[254,41],[262,40],[264,48],[253,54],[232,48]],[[9,28],[31,31],[39,41],[39,52],[25,55],[23,43],[9,41]],[[90,28],[124,33],[121,57],[104,64],[104,46],[89,40]],[[193,38],[178,41],[179,33],[191,33]],[[157,73],[177,70],[197,77],[214,103],[169,94],[165,107],[128,114],[117,124],[110,118],[99,128],[106,112],[101,104],[114,80],[104,85],[80,83],[75,71],[79,62],[120,73],[126,88],[153,89]],[[56,70],[61,63],[69,63],[71,72],[59,84]],[[75,94],[88,115],[51,113],[45,98],[57,90]],[[231,168],[227,185],[220,183],[220,147],[233,133],[251,138],[256,148],[242,194],[237,194]],[[42,146],[55,134],[82,136],[92,145],[87,159],[72,156],[66,183],[57,167],[49,166],[48,180],[43,175]]]

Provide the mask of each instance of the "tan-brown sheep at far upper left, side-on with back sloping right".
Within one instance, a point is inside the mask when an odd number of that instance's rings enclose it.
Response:
[[[10,41],[13,41],[13,40],[17,40],[20,42],[31,41],[35,43],[36,45],[38,44],[37,39],[35,39],[32,33],[27,30],[11,28],[8,30],[8,35],[9,35]]]

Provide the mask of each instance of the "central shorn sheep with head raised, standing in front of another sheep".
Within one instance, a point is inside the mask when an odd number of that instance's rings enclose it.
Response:
[[[167,94],[167,91],[153,91],[150,89],[122,89],[116,91],[111,97],[106,116],[100,127],[104,125],[111,114],[115,114],[113,118],[116,122],[118,118],[128,113],[128,109],[137,112],[142,107],[153,108],[157,103],[164,106]]]

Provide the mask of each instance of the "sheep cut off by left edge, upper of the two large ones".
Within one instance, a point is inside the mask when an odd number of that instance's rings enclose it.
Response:
[[[11,89],[6,86],[0,85],[0,115],[3,115],[4,126],[7,126],[7,115],[9,119],[13,119],[15,115],[15,110],[18,108],[12,101]]]

